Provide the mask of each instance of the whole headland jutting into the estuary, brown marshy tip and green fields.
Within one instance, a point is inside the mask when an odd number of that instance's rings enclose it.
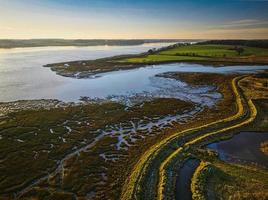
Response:
[[[175,44],[136,55],[54,63],[45,67],[61,76],[89,78],[105,72],[180,62],[212,66],[267,65],[268,49],[222,44]]]

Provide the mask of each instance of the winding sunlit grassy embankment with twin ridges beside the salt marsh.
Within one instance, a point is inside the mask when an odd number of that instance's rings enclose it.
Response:
[[[239,91],[239,82],[244,78],[245,76],[236,77],[232,80],[232,89],[233,93],[236,98],[236,105],[237,105],[237,113],[233,116],[217,120],[215,122],[205,124],[199,127],[190,128],[181,132],[178,132],[176,134],[173,134],[166,139],[162,140],[161,142],[153,145],[148,151],[144,153],[144,155],[140,158],[139,162],[136,164],[134,169],[132,170],[132,173],[126,180],[123,190],[121,199],[122,200],[132,200],[132,199],[139,199],[138,195],[142,191],[141,183],[144,176],[146,176],[146,173],[149,169],[149,165],[151,162],[153,162],[153,159],[159,154],[161,150],[163,150],[165,147],[168,146],[168,144],[176,141],[179,136],[182,136],[184,134],[189,134],[192,132],[197,132],[201,130],[206,130],[208,128],[213,128],[215,125],[226,125],[225,123],[231,123],[235,120],[239,120],[243,115],[247,112],[250,112],[249,118],[246,117],[246,119],[243,119],[242,122],[239,122],[234,125],[229,125],[227,127],[221,128],[219,130],[214,130],[212,132],[207,132],[205,134],[202,134],[201,136],[197,136],[193,140],[190,140],[186,142],[183,146],[176,149],[174,152],[172,152],[161,164],[159,168],[159,180],[157,185],[157,199],[162,200],[164,199],[164,188],[165,188],[165,180],[166,180],[166,167],[172,161],[173,158],[178,156],[183,150],[188,148],[189,146],[195,145],[204,139],[207,139],[210,136],[214,136],[219,133],[223,133],[235,128],[238,128],[240,126],[246,125],[250,122],[252,122],[256,115],[257,110],[251,101],[251,99],[246,100],[243,98],[243,95],[240,94]],[[246,104],[246,105],[244,105]],[[249,108],[249,111],[247,110]]]

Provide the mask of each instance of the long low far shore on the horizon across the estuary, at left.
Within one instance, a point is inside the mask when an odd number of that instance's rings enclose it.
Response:
[[[145,43],[159,42],[182,42],[185,40],[172,39],[157,39],[157,40],[65,40],[65,39],[29,39],[29,40],[8,40],[0,39],[0,48],[16,48],[16,47],[44,47],[44,46],[126,46],[126,45],[141,45]],[[194,40],[188,40],[191,42]]]

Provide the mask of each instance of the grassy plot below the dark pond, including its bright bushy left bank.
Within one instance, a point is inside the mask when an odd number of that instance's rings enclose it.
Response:
[[[195,149],[201,160],[191,180],[193,200],[258,199],[268,197],[268,172],[264,168],[220,161],[211,150]]]

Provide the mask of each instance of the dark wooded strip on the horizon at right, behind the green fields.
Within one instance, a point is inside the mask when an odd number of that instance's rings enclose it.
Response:
[[[268,40],[208,40],[198,44],[222,44],[268,48]]]

